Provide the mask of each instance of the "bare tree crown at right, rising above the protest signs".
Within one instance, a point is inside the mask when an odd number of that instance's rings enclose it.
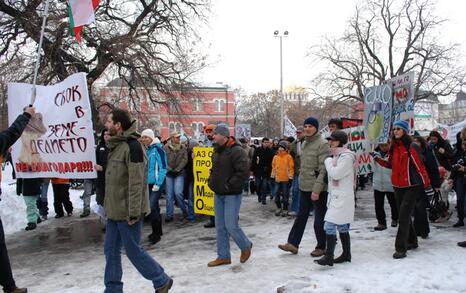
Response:
[[[449,96],[465,82],[458,44],[442,44],[446,21],[430,0],[365,0],[343,37],[325,38],[311,54],[329,68],[316,89],[341,102],[363,100],[366,87],[406,72],[416,73],[415,98]]]

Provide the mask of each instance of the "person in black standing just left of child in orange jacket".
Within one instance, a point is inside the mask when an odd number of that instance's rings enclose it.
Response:
[[[251,162],[251,172],[256,180],[257,200],[266,204],[267,193],[271,192],[273,151],[267,137],[262,139],[262,146],[254,152]]]

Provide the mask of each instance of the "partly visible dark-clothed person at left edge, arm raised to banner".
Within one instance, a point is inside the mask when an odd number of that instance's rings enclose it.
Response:
[[[31,115],[34,115],[34,107],[27,107],[24,113],[16,118],[15,122],[5,131],[0,132],[0,154],[4,154],[21,136],[24,128],[29,123]],[[6,293],[24,293],[26,288],[16,287],[13,273],[11,272],[10,259],[5,244],[5,233],[0,219],[0,285]]]

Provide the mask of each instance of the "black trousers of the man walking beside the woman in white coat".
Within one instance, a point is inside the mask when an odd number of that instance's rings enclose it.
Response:
[[[317,239],[316,248],[325,250],[326,238],[324,230],[324,218],[327,212],[327,191],[320,193],[319,200],[311,200],[312,192],[301,191],[299,195],[299,211],[288,235],[288,243],[299,247],[306,229],[307,220],[314,205],[314,233]]]

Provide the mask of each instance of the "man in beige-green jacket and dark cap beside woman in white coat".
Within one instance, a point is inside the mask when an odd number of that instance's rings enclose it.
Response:
[[[327,141],[319,133],[319,121],[308,117],[304,121],[304,142],[301,146],[301,168],[299,171],[300,201],[298,216],[288,235],[288,242],[278,247],[293,254],[298,253],[299,244],[306,228],[311,206],[314,205],[314,233],[317,246],[311,256],[325,254],[326,237],[324,218],[327,211],[327,171],[324,161],[329,155]]]

